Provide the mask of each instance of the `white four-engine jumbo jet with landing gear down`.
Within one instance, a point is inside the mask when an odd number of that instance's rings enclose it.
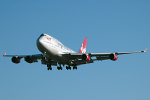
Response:
[[[48,34],[41,34],[36,41],[36,45],[41,54],[33,55],[6,55],[4,57],[12,57],[11,61],[15,64],[20,63],[20,60],[24,58],[27,63],[38,62],[41,60],[41,64],[47,65],[47,70],[52,70],[52,66],[57,66],[58,70],[62,70],[63,65],[67,70],[71,70],[71,67],[77,69],[77,66],[83,64],[94,63],[99,60],[112,60],[116,61],[118,55],[141,53],[144,51],[134,52],[114,52],[114,53],[86,53],[87,38],[85,37],[79,52],[75,52],[68,47],[64,46],[60,41]]]

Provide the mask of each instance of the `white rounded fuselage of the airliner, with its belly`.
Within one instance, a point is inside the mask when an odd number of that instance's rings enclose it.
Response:
[[[59,63],[66,61],[62,54],[76,53],[75,51],[64,46],[60,41],[47,34],[42,34],[37,39],[37,48],[40,52],[45,53],[49,60],[55,60]]]

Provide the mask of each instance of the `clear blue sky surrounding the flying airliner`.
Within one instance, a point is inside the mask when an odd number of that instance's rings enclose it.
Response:
[[[0,100],[149,100],[149,0],[1,0]],[[7,54],[38,54],[47,33],[78,51],[140,51],[78,70],[47,71],[41,62],[13,64]]]

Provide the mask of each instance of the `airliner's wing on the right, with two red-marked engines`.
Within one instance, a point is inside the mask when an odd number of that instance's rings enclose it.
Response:
[[[117,60],[117,55],[122,55],[122,54],[132,54],[132,53],[142,53],[146,52],[147,49],[144,51],[133,51],[133,52],[116,52],[116,53],[66,53],[62,54],[62,56],[68,58],[68,60],[71,60],[77,65],[81,64],[86,64],[86,63],[93,63],[94,61],[97,60],[112,60],[116,61]],[[89,58],[90,59],[89,59]]]

